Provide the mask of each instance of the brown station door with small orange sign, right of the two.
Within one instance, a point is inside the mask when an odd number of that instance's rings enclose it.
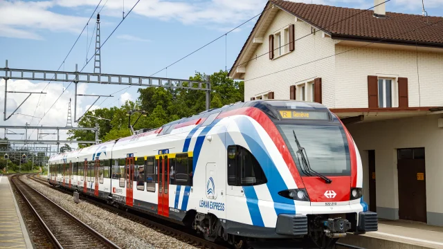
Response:
[[[412,149],[415,151],[416,149]],[[416,153],[413,153],[416,154]],[[426,222],[426,174],[423,156],[400,156],[397,161],[399,181],[399,219]]]

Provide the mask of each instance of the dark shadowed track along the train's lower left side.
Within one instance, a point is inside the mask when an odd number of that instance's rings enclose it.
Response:
[[[37,183],[41,183],[43,185],[46,185],[47,187],[51,187],[54,190],[58,190],[65,194],[73,193],[70,190],[64,190],[59,187],[53,187],[48,183],[48,181],[44,181],[41,178],[37,178],[35,177],[35,175],[28,175],[28,177],[34,181],[37,181]],[[118,208],[114,208],[111,205],[108,205],[107,203],[103,203],[101,199],[96,199],[93,196],[84,196],[82,195],[82,193],[80,193],[80,199],[88,201],[89,203],[93,203],[94,205],[98,205],[100,206],[100,208],[103,208],[110,212],[118,213],[120,216],[123,216],[131,221],[141,223],[150,228],[155,228],[156,230],[161,230],[163,233],[168,234],[169,236],[177,237],[177,239],[180,239],[181,241],[186,241],[186,243],[192,244],[194,246],[200,246],[201,248],[213,248],[213,249],[230,248],[228,245],[220,245],[218,243],[207,241],[206,239],[201,238],[197,234],[195,234],[194,230],[184,228],[182,225],[177,225],[176,223],[157,219],[156,217],[150,216],[149,214],[145,214],[134,210],[120,210]]]

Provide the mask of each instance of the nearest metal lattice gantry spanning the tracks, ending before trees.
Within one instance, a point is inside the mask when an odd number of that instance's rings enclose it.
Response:
[[[140,87],[163,87],[170,89],[186,89],[206,92],[206,110],[210,108],[210,81],[206,79],[204,82],[195,80],[180,80],[168,77],[149,77],[137,75],[114,75],[102,73],[81,73],[78,71],[78,65],[75,64],[74,72],[67,71],[46,71],[46,70],[32,70],[32,69],[17,69],[8,68],[8,60],[6,60],[6,67],[0,68],[0,77],[5,80],[5,100],[3,120],[6,118],[6,100],[8,93],[8,80],[37,80],[37,81],[52,81],[52,82],[73,82],[75,84],[75,98],[74,98],[74,122],[77,119],[77,86],[78,83],[86,84],[114,84],[125,86],[140,86]],[[96,95],[97,97],[98,95]],[[102,96],[102,95],[101,95]],[[106,96],[109,97],[109,96]],[[100,98],[100,97],[99,97]],[[25,100],[26,101],[26,100]],[[23,104],[22,102],[21,104]],[[21,105],[20,104],[20,105]],[[17,108],[18,109],[18,108]]]

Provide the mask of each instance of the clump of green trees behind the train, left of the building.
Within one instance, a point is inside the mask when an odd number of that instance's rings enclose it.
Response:
[[[206,74],[195,73],[189,77],[192,81],[201,81],[207,78]],[[244,82],[236,82],[228,77],[225,71],[219,71],[210,75],[211,93],[210,107],[219,108],[226,104],[233,104],[244,100]],[[197,87],[195,83],[194,87]],[[198,84],[198,83],[197,83]],[[189,82],[183,82],[183,86],[190,86]],[[85,117],[78,122],[79,127],[94,127],[96,122],[99,124],[98,138],[103,142],[115,140],[125,136],[130,136],[131,131],[128,128],[128,111],[140,109],[147,112],[147,116],[141,116],[134,125],[137,129],[154,129],[161,127],[168,122],[179,120],[180,118],[190,117],[206,109],[206,93],[204,91],[195,91],[188,89],[165,89],[162,87],[148,87],[138,89],[140,96],[135,102],[127,101],[122,107],[103,108],[88,111]],[[89,118],[98,116],[107,118],[107,120],[97,120]],[[131,122],[134,124],[138,118],[138,113],[131,116]],[[69,139],[94,140],[93,131],[69,130]],[[80,147],[82,145],[79,145]],[[89,145],[83,145],[89,146]]]

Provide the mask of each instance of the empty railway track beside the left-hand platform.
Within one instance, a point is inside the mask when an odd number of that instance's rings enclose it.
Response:
[[[31,212],[37,217],[53,248],[119,248],[33,187],[26,185],[19,175],[11,176],[11,180]]]

